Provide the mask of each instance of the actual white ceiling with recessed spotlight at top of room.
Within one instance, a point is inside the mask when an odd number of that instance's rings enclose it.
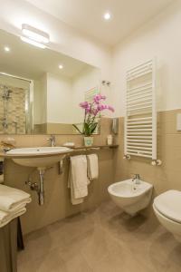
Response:
[[[173,0],[27,0],[44,12],[89,34],[100,42],[114,45],[146,23]],[[110,21],[103,14],[110,11]]]

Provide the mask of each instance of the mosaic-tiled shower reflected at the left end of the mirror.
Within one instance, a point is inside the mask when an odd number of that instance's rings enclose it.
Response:
[[[33,85],[0,72],[0,133],[30,133],[33,127]]]

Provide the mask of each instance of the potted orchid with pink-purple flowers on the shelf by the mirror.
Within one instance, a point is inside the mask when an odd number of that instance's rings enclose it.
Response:
[[[106,100],[106,96],[101,94],[96,94],[93,97],[92,102],[81,102],[80,107],[84,110],[84,121],[82,131],[73,124],[73,127],[84,136],[84,144],[85,146],[91,146],[93,144],[93,137],[91,136],[96,130],[99,119],[100,112],[104,110],[109,110],[114,112],[114,109],[102,103],[102,101]]]

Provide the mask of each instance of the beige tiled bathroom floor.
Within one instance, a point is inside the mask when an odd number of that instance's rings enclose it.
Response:
[[[158,224],[109,201],[33,232],[18,272],[178,272],[181,244]]]

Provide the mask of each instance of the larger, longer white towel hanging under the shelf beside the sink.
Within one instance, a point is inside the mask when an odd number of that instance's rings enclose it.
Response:
[[[68,187],[71,188],[71,203],[83,202],[88,195],[87,159],[85,155],[71,157]]]

